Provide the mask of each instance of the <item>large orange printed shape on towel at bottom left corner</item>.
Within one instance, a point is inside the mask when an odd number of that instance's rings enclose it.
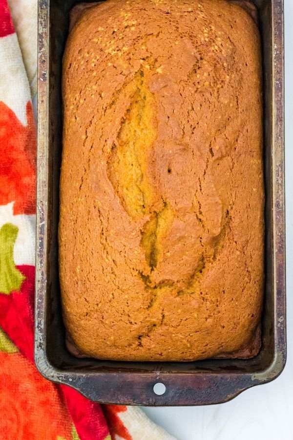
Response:
[[[1,439],[71,440],[72,422],[57,387],[21,353],[0,352],[0,365]]]

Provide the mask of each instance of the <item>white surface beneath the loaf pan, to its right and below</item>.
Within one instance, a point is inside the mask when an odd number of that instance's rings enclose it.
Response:
[[[284,372],[228,403],[209,407],[144,408],[179,440],[293,439],[293,0],[285,2],[287,339]]]

